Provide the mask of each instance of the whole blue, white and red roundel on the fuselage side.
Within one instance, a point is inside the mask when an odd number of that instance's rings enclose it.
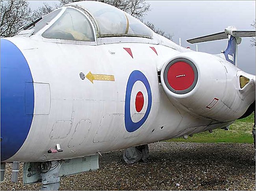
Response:
[[[133,71],[126,86],[124,123],[128,132],[139,129],[147,120],[152,106],[152,93],[146,76]]]

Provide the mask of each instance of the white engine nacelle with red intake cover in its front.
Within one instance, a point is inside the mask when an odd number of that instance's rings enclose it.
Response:
[[[254,75],[207,53],[173,56],[163,65],[161,82],[177,107],[217,121],[241,117],[255,100]]]

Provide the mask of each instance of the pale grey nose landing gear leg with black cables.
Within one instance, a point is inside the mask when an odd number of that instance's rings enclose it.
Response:
[[[58,190],[59,189],[59,169],[61,161],[43,162],[41,165],[42,188],[41,190]]]

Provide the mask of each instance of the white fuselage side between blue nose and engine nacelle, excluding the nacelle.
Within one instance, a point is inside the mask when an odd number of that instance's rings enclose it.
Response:
[[[161,43],[77,45],[47,42],[36,36],[10,40],[19,47],[29,64],[35,105],[26,141],[6,162],[36,162],[106,153],[192,135],[234,122],[234,119],[218,121],[190,113],[181,106],[182,103],[179,106],[168,99],[158,81],[158,71],[166,60],[180,52]],[[124,48],[130,48],[133,57]],[[150,84],[152,106],[144,124],[136,131],[128,132],[124,123],[126,86],[135,70],[141,71]],[[113,75],[115,81],[92,83],[87,78],[80,78],[80,73],[87,75],[90,71]],[[140,112],[135,109],[138,91],[145,98]],[[138,122],[147,109],[147,89],[137,81],[130,95],[131,118]],[[212,97],[202,96],[201,99],[208,99],[210,103]],[[60,144],[63,152],[47,153],[56,144]]]

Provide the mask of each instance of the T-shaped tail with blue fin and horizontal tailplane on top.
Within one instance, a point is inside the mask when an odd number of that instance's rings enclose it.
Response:
[[[255,36],[255,31],[237,31],[236,27],[229,26],[224,30],[224,32],[189,39],[187,40],[187,42],[194,44],[198,42],[208,42],[212,40],[221,40],[221,39],[228,38],[228,47],[222,53],[224,54],[228,62],[231,62],[234,65],[237,65],[236,63],[237,45],[241,43],[241,37],[252,37],[252,36]]]

